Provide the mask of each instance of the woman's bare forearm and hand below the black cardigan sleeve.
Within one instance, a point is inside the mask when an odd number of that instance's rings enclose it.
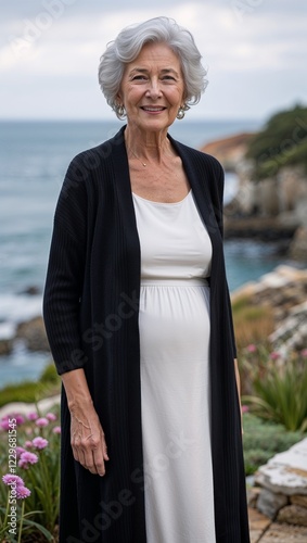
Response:
[[[91,473],[104,476],[108,460],[104,433],[94,409],[82,368],[62,375],[71,412],[74,458]]]

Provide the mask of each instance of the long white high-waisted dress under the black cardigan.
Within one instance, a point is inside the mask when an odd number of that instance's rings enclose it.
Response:
[[[133,195],[148,543],[215,543],[209,413],[212,244],[192,191]]]

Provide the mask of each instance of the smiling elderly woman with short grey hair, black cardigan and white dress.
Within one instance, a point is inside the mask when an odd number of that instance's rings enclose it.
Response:
[[[223,172],[168,135],[204,76],[166,17],[101,58],[127,125],[68,167],[44,293],[64,384],[62,543],[250,541]]]

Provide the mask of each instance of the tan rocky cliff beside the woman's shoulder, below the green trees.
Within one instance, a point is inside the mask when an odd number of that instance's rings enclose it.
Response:
[[[239,178],[238,193],[225,207],[225,237],[276,241],[287,257],[307,263],[306,173],[296,165],[255,180],[253,164],[245,157],[252,136],[238,134],[202,148]]]

